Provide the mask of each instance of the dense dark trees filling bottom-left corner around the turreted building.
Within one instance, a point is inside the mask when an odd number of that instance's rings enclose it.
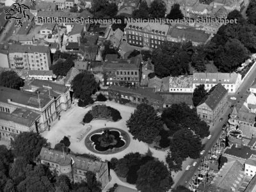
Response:
[[[68,138],[60,141],[70,145]],[[86,173],[86,182],[73,183],[66,175],[57,175],[44,164],[36,164],[42,147],[49,146],[45,138],[35,132],[21,132],[12,140],[12,149],[0,145],[0,191],[101,191],[101,184],[93,172]]]

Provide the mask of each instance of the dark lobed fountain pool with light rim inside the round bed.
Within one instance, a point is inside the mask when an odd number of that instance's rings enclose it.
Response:
[[[95,145],[95,150],[106,151],[113,148],[120,148],[125,145],[125,141],[122,140],[119,131],[106,129],[100,134],[96,133],[90,137]]]

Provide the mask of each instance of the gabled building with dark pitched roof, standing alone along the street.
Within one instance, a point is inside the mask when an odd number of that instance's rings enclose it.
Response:
[[[207,124],[214,124],[228,104],[228,92],[220,83],[209,90],[196,107],[196,113]]]

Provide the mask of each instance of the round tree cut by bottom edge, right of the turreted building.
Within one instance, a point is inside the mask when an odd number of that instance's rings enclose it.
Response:
[[[165,192],[172,184],[172,177],[163,162],[149,161],[138,170],[136,187],[141,192]]]

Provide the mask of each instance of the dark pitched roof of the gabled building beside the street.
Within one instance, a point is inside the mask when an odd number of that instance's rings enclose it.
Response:
[[[201,100],[201,104],[205,103],[209,108],[212,110],[216,108],[220,100],[224,97],[225,94],[227,94],[227,90],[224,88],[224,86],[220,83],[216,84],[214,87],[209,90],[209,92],[205,95],[205,97]]]

